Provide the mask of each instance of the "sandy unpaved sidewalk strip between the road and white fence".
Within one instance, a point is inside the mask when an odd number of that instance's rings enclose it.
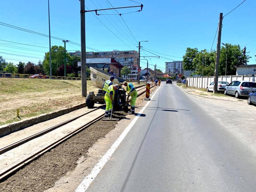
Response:
[[[247,103],[247,99],[245,99],[246,97],[237,99],[233,95],[224,95],[223,93],[214,94],[213,92],[207,92],[206,89],[186,87],[186,84],[177,83],[175,85],[180,87],[181,89],[183,89],[184,91],[186,91],[191,95],[197,95],[199,97],[204,97],[209,99]]]

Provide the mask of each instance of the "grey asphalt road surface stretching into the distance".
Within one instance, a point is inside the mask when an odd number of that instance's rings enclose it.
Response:
[[[256,107],[222,103],[163,83],[86,191],[256,191]]]

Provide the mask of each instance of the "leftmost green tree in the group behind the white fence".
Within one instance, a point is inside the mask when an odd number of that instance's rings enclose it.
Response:
[[[183,55],[183,69],[184,70],[195,70],[196,66],[193,65],[195,55],[198,53],[197,48],[187,47],[185,55]]]

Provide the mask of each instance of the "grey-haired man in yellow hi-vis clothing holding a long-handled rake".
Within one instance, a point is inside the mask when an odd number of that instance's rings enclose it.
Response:
[[[115,90],[118,89],[118,85],[110,85],[107,89],[104,99],[106,102],[106,110],[105,110],[105,118],[109,118],[111,115],[111,110],[114,105],[114,96],[115,96]]]

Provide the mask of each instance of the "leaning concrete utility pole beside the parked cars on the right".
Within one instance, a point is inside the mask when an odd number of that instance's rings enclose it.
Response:
[[[219,33],[218,33],[218,41],[217,41],[217,54],[216,54],[216,62],[215,62],[215,71],[214,71],[214,89],[213,93],[218,92],[218,78],[219,78],[219,53],[221,49],[221,28],[222,28],[222,14],[219,14]]]

